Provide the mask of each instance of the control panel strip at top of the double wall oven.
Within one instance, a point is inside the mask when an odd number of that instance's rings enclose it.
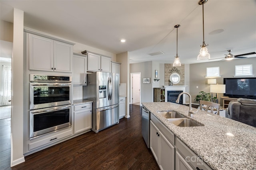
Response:
[[[30,82],[71,82],[71,77],[30,74]]]

